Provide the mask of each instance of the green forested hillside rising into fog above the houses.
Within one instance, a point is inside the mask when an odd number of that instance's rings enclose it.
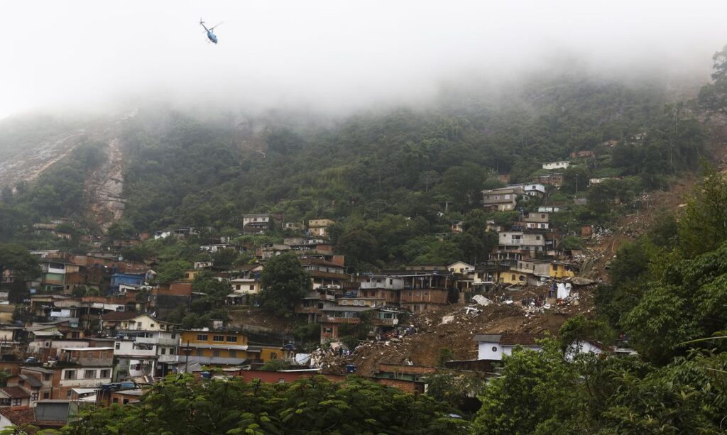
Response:
[[[618,213],[609,203],[628,205],[640,192],[667,187],[704,156],[694,106],[670,102],[659,82],[569,73],[524,83],[451,91],[422,109],[336,121],[140,110],[122,124],[126,211],[111,229],[123,237],[194,226],[205,235],[236,237],[241,214],[273,212],[285,221],[335,219],[332,242],[360,267],[477,261],[493,240],[474,223],[516,217],[478,211],[481,190],[504,185],[502,175],[529,182],[547,173],[544,161],[594,151],[595,159],[571,162],[563,186],[547,199],[572,203],[578,193],[590,200],[558,216],[569,229],[607,222]],[[46,171],[42,182],[4,190],[4,239],[17,239],[23,225],[42,219],[87,217],[82,174],[103,153],[105,145],[89,142]],[[588,189],[594,177],[613,179]],[[433,237],[461,220],[473,231]],[[36,239],[23,241],[54,244]]]

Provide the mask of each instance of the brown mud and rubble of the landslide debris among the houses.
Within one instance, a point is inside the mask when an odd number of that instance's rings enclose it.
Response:
[[[596,282],[579,282],[587,284],[571,282],[569,295],[553,304],[547,303],[551,288],[547,284],[510,288],[480,295],[467,306],[417,313],[393,336],[365,341],[350,353],[319,350],[316,361],[324,373],[342,374],[347,365],[356,365],[356,373],[374,375],[379,363],[433,367],[443,348],[450,349],[455,359],[475,359],[477,346],[473,338],[484,332],[555,335],[568,317],[590,312]]]

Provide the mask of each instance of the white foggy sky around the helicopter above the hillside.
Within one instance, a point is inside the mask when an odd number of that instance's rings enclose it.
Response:
[[[345,111],[577,58],[704,75],[726,1],[2,1],[0,118],[145,99]],[[200,18],[217,28],[207,44]]]

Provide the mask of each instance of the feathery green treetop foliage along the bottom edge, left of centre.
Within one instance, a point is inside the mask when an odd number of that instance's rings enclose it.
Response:
[[[170,376],[139,404],[84,412],[65,434],[465,434],[448,405],[363,378],[295,383]]]

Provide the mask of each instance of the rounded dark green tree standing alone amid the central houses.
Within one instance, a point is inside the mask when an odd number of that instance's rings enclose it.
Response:
[[[295,253],[284,253],[268,260],[260,278],[262,307],[289,316],[293,307],[310,290],[310,275]]]

